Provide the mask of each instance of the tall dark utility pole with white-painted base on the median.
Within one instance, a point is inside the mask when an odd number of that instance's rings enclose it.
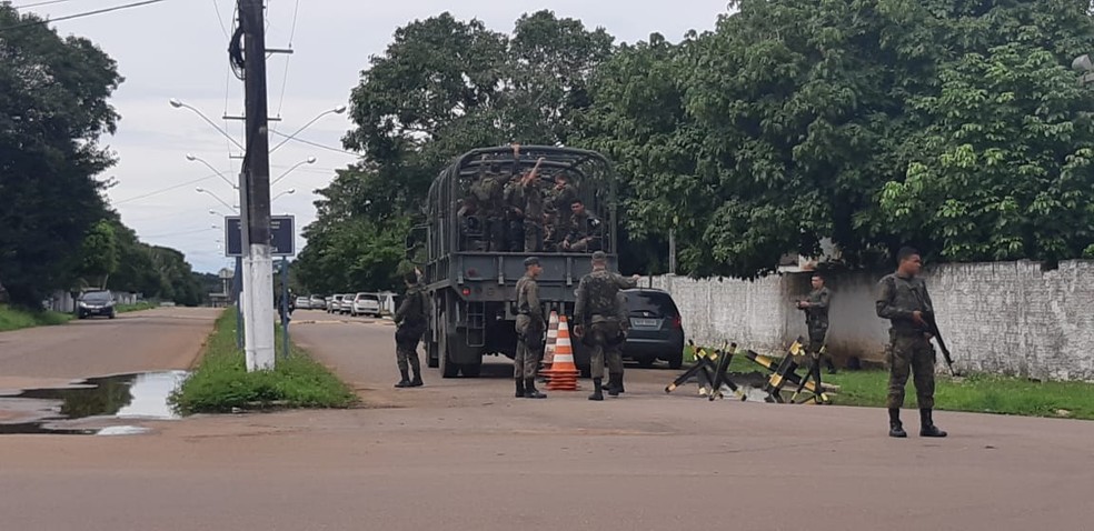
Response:
[[[247,370],[274,369],[274,260],[270,252],[270,159],[263,0],[238,0],[243,32],[247,150],[240,186]],[[249,293],[248,293],[249,292]]]

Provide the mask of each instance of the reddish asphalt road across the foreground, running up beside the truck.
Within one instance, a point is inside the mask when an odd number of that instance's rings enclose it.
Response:
[[[882,410],[666,395],[669,370],[629,369],[604,402],[587,380],[517,400],[504,361],[396,390],[394,328],[295,318],[368,407],[0,438],[0,529],[1071,530],[1094,515],[1091,422],[942,412],[948,439],[894,440]]]

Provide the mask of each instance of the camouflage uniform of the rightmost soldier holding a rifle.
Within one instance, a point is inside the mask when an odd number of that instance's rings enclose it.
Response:
[[[892,322],[885,354],[889,364],[888,408],[904,405],[904,388],[911,371],[919,409],[933,409],[935,351],[926,330],[912,319],[914,311],[933,311],[927,285],[919,278],[893,273],[885,275],[877,288],[877,317]]]

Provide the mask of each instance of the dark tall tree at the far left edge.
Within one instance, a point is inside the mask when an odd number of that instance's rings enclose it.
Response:
[[[67,288],[88,229],[105,213],[93,179],[113,163],[108,103],[122,78],[87,39],[61,39],[0,4],[0,271],[12,302],[38,308]],[[21,24],[18,28],[12,28]]]

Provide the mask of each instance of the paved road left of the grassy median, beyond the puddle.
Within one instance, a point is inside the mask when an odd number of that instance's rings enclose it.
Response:
[[[189,369],[219,310],[159,308],[0,333],[0,389]]]

